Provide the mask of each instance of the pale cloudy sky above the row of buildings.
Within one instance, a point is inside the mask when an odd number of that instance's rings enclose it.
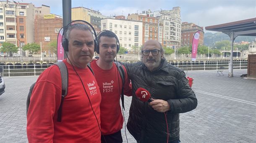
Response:
[[[62,0],[15,0],[50,6],[51,13],[62,16]],[[102,15],[128,15],[142,10],[172,10],[179,6],[182,22],[212,26],[232,21],[256,18],[256,0],[72,0],[73,7],[92,8]],[[206,31],[207,32],[207,31]],[[208,31],[209,32],[209,31]]]

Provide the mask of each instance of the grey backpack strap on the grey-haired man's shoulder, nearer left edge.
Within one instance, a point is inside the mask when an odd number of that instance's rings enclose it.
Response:
[[[68,94],[68,69],[67,66],[63,61],[59,61],[55,63],[54,65],[57,65],[60,69],[60,75],[61,75],[61,102],[60,107],[58,109],[58,117],[57,122],[61,122],[61,114],[62,114],[62,105],[64,97]]]

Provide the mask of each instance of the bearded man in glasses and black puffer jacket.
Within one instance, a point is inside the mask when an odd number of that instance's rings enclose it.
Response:
[[[133,89],[127,128],[138,143],[179,143],[179,113],[196,108],[196,95],[184,71],[167,63],[158,41],[147,41],[141,56],[140,62],[124,63]],[[139,87],[147,89],[154,101],[139,100],[135,96]]]

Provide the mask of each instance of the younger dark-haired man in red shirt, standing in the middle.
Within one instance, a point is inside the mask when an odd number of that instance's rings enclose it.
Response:
[[[114,58],[119,50],[118,38],[112,31],[102,31],[97,36],[97,52],[99,59],[91,62],[95,78],[100,88],[102,101],[100,104],[100,118],[102,143],[122,143],[121,129],[123,115],[120,107],[120,94],[123,87],[124,94],[131,96],[131,84],[124,69],[124,81],[120,77]]]

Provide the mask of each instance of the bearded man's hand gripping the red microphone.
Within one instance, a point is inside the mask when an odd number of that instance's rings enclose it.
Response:
[[[170,105],[165,100],[154,100],[149,105],[157,112],[166,112],[170,109]]]

